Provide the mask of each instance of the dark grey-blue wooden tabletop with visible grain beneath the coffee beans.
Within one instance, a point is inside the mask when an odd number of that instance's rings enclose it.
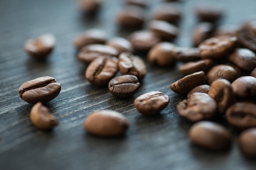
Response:
[[[158,2],[150,0],[145,12]],[[222,23],[241,24],[256,14],[255,0],[211,2],[221,2],[225,7]],[[193,7],[198,3],[181,3],[184,15],[176,41],[179,46],[191,45],[190,34],[196,23]],[[234,134],[230,150],[211,152],[190,144],[187,134],[191,123],[180,118],[175,109],[185,96],[169,88],[182,77],[177,65],[157,68],[147,63],[148,74],[139,92],[126,99],[86,81],[86,67],[76,58],[73,39],[89,28],[102,28],[109,38],[126,37],[128,32],[118,29],[114,21],[122,5],[121,0],[106,0],[96,16],[83,17],[73,0],[0,1],[0,170],[256,169],[254,160],[240,154],[238,132],[230,126],[227,128]],[[32,60],[23,51],[24,41],[48,32],[57,38],[54,52],[45,62]],[[32,105],[18,95],[22,83],[40,76],[53,76],[62,85],[59,96],[46,104],[60,122],[50,132],[31,125]],[[137,112],[133,101],[150,91],[163,92],[171,100],[159,115],[146,117]],[[101,138],[84,131],[85,118],[100,109],[116,110],[128,118],[130,127],[125,136]],[[223,120],[219,122],[226,125]]]

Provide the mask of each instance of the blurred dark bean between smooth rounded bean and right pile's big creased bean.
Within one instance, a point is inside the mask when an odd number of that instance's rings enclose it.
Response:
[[[176,47],[175,51],[175,58],[183,63],[198,61],[201,59],[198,48]]]

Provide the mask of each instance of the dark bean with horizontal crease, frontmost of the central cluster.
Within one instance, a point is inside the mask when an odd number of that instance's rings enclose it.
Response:
[[[108,83],[109,92],[117,97],[130,97],[137,93],[139,87],[139,80],[133,75],[118,76]]]

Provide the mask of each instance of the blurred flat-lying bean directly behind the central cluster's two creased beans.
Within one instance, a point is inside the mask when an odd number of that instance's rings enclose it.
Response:
[[[78,58],[85,64],[90,64],[99,56],[118,56],[118,51],[111,46],[103,44],[90,44],[84,46],[78,53]]]

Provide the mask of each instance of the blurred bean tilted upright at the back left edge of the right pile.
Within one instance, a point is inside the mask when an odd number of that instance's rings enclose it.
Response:
[[[213,24],[210,22],[199,23],[192,32],[192,44],[194,47],[198,47],[199,44],[210,38],[213,33]]]

